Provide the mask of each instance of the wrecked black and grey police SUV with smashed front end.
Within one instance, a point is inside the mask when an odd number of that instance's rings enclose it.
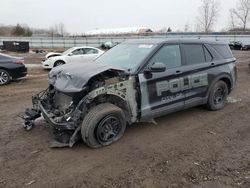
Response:
[[[81,139],[91,148],[119,140],[127,124],[205,105],[222,109],[236,82],[228,44],[202,40],[130,40],[94,62],[63,65],[33,96],[24,127],[43,116],[55,146]]]

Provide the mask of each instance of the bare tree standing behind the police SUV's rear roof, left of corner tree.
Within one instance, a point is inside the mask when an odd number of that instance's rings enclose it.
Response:
[[[199,7],[198,27],[205,33],[210,32],[219,16],[218,0],[202,0],[202,5]]]

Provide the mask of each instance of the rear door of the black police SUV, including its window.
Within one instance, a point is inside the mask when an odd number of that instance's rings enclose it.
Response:
[[[211,80],[211,69],[214,68],[213,56],[203,44],[182,44],[185,54],[183,68],[185,88],[185,106],[194,106],[206,102]]]

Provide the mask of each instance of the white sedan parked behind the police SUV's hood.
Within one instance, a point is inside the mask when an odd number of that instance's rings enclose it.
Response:
[[[66,50],[61,55],[49,57],[45,61],[42,61],[42,66],[45,69],[52,69],[53,67],[63,65],[66,63],[94,60],[103,53],[104,51],[94,47],[89,47],[89,46],[73,47]]]

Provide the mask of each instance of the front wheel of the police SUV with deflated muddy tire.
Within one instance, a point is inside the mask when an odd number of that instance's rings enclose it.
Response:
[[[103,103],[93,107],[85,116],[81,134],[90,148],[108,146],[119,140],[126,129],[125,114],[119,107]]]

